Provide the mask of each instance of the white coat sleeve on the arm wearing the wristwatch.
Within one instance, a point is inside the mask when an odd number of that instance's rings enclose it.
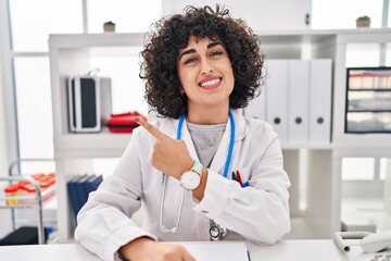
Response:
[[[193,208],[257,244],[275,244],[290,231],[290,182],[277,136],[268,140],[248,187],[209,170],[204,198]]]

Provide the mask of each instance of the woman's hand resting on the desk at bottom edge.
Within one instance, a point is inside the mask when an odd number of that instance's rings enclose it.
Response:
[[[195,261],[184,246],[157,243],[148,237],[137,238],[123,246],[119,254],[131,261]]]

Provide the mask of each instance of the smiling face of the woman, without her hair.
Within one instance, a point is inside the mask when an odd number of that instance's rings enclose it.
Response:
[[[226,49],[218,40],[190,37],[179,50],[178,76],[188,98],[188,109],[229,107],[235,77]]]

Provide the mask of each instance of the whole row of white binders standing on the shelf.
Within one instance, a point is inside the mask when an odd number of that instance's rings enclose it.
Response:
[[[332,60],[269,59],[261,95],[244,115],[268,122],[282,145],[331,142]]]

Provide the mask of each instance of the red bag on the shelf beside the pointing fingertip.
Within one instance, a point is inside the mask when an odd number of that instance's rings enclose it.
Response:
[[[141,117],[147,121],[144,115],[138,112],[126,112],[119,114],[112,114],[106,126],[111,133],[133,133],[134,128],[138,127],[136,117]]]

